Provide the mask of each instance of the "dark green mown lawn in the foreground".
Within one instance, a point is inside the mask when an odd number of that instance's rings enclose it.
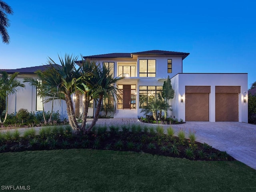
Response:
[[[37,191],[254,192],[256,170],[237,161],[190,161],[87,149],[0,154],[0,184]]]

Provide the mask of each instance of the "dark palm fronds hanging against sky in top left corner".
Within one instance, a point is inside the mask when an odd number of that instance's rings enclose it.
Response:
[[[5,2],[0,0],[0,34],[2,36],[2,42],[9,44],[10,36],[6,30],[10,26],[10,20],[6,14],[13,14],[12,8]]]

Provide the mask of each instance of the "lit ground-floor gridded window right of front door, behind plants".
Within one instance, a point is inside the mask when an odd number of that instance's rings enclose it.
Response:
[[[155,101],[158,93],[163,90],[163,86],[139,86],[139,108],[148,105],[148,103]]]

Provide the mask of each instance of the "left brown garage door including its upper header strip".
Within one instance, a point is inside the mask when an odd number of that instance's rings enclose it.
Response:
[[[209,121],[210,86],[185,87],[185,120]]]

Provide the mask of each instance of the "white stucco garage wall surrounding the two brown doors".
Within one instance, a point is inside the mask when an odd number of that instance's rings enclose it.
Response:
[[[211,86],[209,94],[209,121],[215,122],[215,86],[241,86],[238,110],[239,122],[248,122],[248,74],[177,74],[171,79],[176,98],[172,101],[172,115],[185,119],[185,86]],[[178,84],[178,86],[176,85]],[[180,96],[184,102],[180,102]],[[246,103],[244,103],[246,96]]]

